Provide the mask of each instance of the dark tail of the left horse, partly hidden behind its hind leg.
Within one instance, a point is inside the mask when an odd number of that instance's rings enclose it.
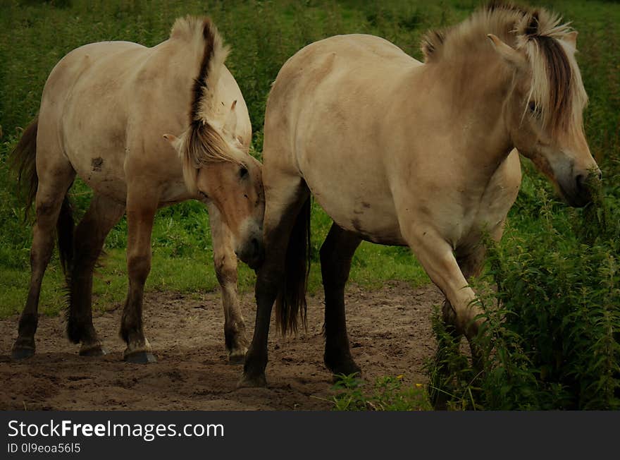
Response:
[[[11,152],[11,167],[17,172],[18,187],[25,191],[24,220],[27,221],[32,210],[32,202],[37,196],[39,176],[37,175],[37,131],[39,116],[24,130],[22,137]],[[73,262],[73,212],[67,195],[63,200],[56,231],[58,233],[58,253],[65,276],[70,272]]]

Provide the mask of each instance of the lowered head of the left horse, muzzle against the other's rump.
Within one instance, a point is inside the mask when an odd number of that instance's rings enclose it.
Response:
[[[230,112],[234,113],[235,102]],[[261,163],[235,137],[235,117],[221,128],[194,121],[180,138],[166,138],[183,159],[185,184],[195,198],[211,202],[234,238],[237,256],[256,268],[263,256],[265,194]],[[235,121],[236,123],[236,121]]]

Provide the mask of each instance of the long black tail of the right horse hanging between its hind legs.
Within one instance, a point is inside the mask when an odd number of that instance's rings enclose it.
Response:
[[[306,327],[306,284],[310,272],[310,197],[297,214],[286,251],[284,282],[275,300],[276,327],[297,332],[297,317]]]

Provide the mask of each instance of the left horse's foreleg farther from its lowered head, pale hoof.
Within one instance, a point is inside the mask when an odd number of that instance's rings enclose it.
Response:
[[[156,361],[151,345],[142,328],[142,300],[144,283],[151,271],[151,231],[159,195],[149,187],[128,190],[127,197],[127,271],[129,291],[120,322],[120,337],[127,348],[123,353],[125,361],[131,363],[152,363]]]

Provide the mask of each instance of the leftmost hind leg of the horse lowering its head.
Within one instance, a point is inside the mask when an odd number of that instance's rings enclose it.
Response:
[[[30,286],[19,320],[18,338],[11,351],[13,359],[28,358],[35,353],[41,282],[54,250],[54,226],[58,222],[63,199],[75,177],[75,171],[66,161],[48,163],[45,166],[40,168],[39,172],[39,186],[35,198],[37,217],[30,248]]]

